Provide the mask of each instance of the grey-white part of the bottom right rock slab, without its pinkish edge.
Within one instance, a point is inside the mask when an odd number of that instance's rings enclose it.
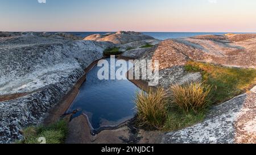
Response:
[[[180,131],[167,133],[163,136],[162,143],[234,143],[234,122],[245,99],[246,94],[243,94],[214,107],[204,122]]]

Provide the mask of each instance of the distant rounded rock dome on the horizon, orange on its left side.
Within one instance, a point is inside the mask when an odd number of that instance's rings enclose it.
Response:
[[[85,37],[84,40],[95,40],[95,41],[110,41],[114,44],[127,44],[134,41],[141,41],[141,40],[150,40],[154,39],[154,37],[143,35],[139,32],[125,32],[125,31],[119,31],[117,33],[107,33],[105,35],[90,35]]]

